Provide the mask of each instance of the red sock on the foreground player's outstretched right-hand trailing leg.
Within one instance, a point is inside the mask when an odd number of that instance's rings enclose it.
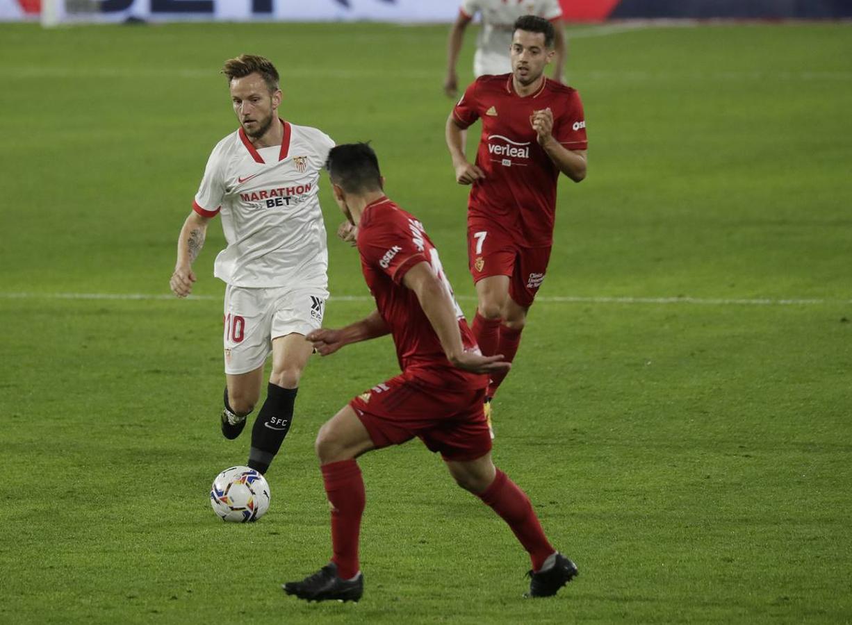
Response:
[[[509,524],[521,545],[530,554],[533,571],[538,571],[544,565],[544,560],[556,549],[550,546],[547,536],[544,536],[544,530],[541,529],[527,494],[498,469],[497,477],[485,492],[480,493],[480,499]]]

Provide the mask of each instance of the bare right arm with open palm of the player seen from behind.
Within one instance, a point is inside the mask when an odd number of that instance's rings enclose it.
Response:
[[[503,356],[482,356],[480,353],[466,352],[462,335],[458,330],[456,308],[452,303],[447,287],[441,281],[428,262],[418,262],[406,272],[402,284],[414,291],[423,313],[429,318],[429,324],[435,330],[440,347],[446,359],[454,366],[474,373],[494,373],[508,371],[511,364],[504,362]]]

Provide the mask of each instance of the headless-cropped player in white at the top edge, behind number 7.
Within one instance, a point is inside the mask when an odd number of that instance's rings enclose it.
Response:
[[[464,31],[476,14],[481,15],[482,26],[476,38],[474,54],[475,77],[508,74],[512,71],[509,48],[512,45],[513,25],[522,15],[538,15],[553,22],[556,39],[553,49],[554,80],[565,83],[564,68],[567,54],[565,32],[562,30],[562,9],[559,0],[463,0],[458,8],[458,17],[450,30],[446,45],[446,77],[444,92],[455,99],[458,96],[456,65],[462,49]]]

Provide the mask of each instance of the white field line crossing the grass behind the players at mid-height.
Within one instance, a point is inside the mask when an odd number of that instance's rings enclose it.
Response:
[[[0,293],[0,300],[120,300],[170,301],[175,295],[167,293]],[[221,295],[190,295],[188,300],[222,301]],[[461,301],[475,301],[474,295],[458,295]],[[329,301],[372,301],[370,295],[332,295]],[[711,306],[814,306],[822,304],[852,304],[852,300],[826,298],[728,298],[728,297],[612,297],[580,295],[541,295],[539,303],[569,304],[697,304]]]

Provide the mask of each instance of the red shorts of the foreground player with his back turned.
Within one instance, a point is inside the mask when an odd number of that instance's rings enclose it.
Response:
[[[417,436],[445,460],[467,462],[491,451],[482,403],[485,389],[427,391],[396,376],[349,402],[377,449]]]

